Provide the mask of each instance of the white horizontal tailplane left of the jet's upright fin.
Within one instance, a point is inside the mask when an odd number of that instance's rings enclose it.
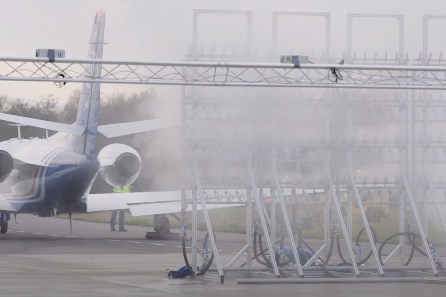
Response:
[[[23,124],[23,125],[28,125],[28,126],[33,126],[33,127],[37,127],[37,128],[51,130],[51,131],[58,131],[58,132],[63,132],[63,133],[67,133],[67,134],[74,134],[77,136],[81,136],[85,131],[85,128],[83,128],[81,126],[68,125],[68,124],[58,123],[58,122],[50,122],[50,121],[45,121],[45,120],[39,120],[37,118],[21,117],[19,115],[13,115],[13,114],[0,113],[0,120]]]

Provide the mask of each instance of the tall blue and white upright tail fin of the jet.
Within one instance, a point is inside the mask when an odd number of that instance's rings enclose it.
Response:
[[[105,11],[99,10],[91,30],[88,58],[101,59],[104,45]],[[102,67],[100,64],[90,64],[86,67],[86,76],[100,77]],[[98,119],[100,106],[100,83],[85,82],[82,85],[79,98],[78,114],[75,126],[85,129],[82,136],[72,136],[68,146],[79,154],[95,155],[96,140],[98,136]]]

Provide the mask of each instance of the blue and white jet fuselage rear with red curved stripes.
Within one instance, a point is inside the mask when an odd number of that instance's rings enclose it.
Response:
[[[99,172],[95,156],[77,154],[52,139],[9,140],[0,142],[0,149],[14,158],[0,194],[17,213],[51,216],[55,208],[58,213],[86,212],[81,199]]]

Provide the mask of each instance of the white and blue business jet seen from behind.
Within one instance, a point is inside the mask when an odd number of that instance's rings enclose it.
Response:
[[[88,58],[102,58],[105,12],[96,13]],[[100,76],[101,66],[89,65]],[[0,120],[57,131],[51,137],[0,142],[0,232],[8,230],[11,214],[46,217],[60,213],[130,210],[132,216],[181,211],[181,192],[89,194],[98,173],[111,186],[124,187],[141,170],[136,150],[124,144],[104,147],[96,156],[98,134],[117,137],[171,126],[161,119],[98,126],[99,83],[84,83],[73,125],[1,114]],[[233,205],[209,205],[208,208]],[[198,206],[200,209],[201,206]],[[71,221],[70,221],[71,222]]]

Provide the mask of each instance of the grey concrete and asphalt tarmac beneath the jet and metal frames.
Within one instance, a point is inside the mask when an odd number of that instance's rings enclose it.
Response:
[[[227,278],[167,278],[167,268],[184,266],[179,240],[146,240],[150,228],[128,226],[110,232],[108,224],[39,218],[10,221],[0,235],[0,296],[444,296],[446,286],[427,283],[237,285]],[[245,236],[217,233],[226,264],[245,244]],[[314,248],[319,241],[311,241]],[[190,244],[190,243],[189,243]],[[187,245],[187,244],[186,244]],[[367,246],[364,246],[367,248]],[[392,246],[389,245],[389,250]],[[444,249],[438,249],[445,256]],[[333,256],[336,260],[337,255]],[[417,255],[414,261],[421,264]],[[398,261],[398,260],[396,260]]]

